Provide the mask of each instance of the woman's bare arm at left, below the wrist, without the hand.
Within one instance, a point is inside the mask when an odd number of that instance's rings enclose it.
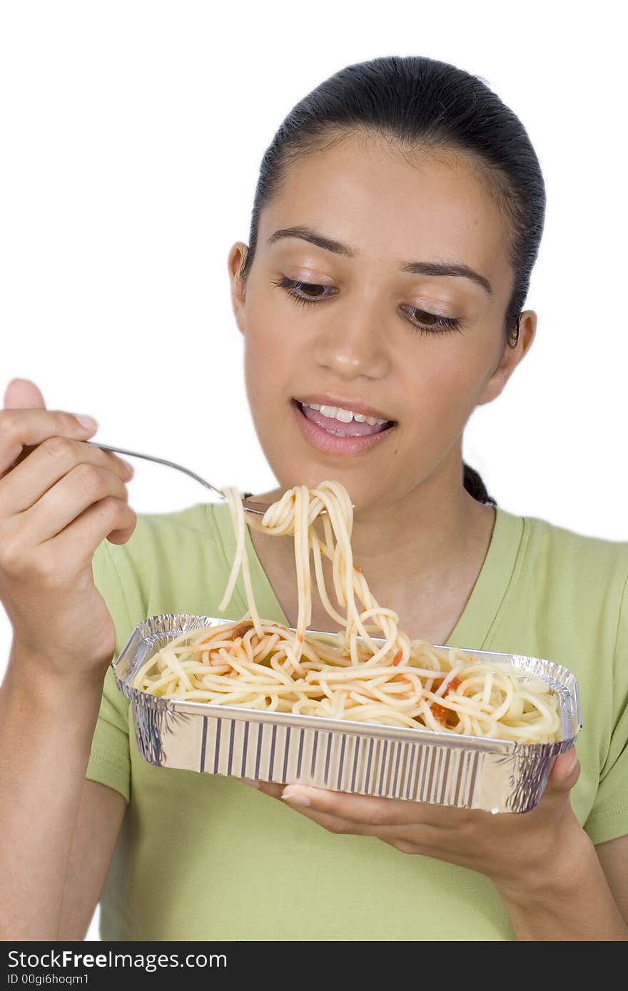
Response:
[[[102,686],[26,680],[18,653],[0,690],[0,939],[83,938],[125,807],[84,788]]]

